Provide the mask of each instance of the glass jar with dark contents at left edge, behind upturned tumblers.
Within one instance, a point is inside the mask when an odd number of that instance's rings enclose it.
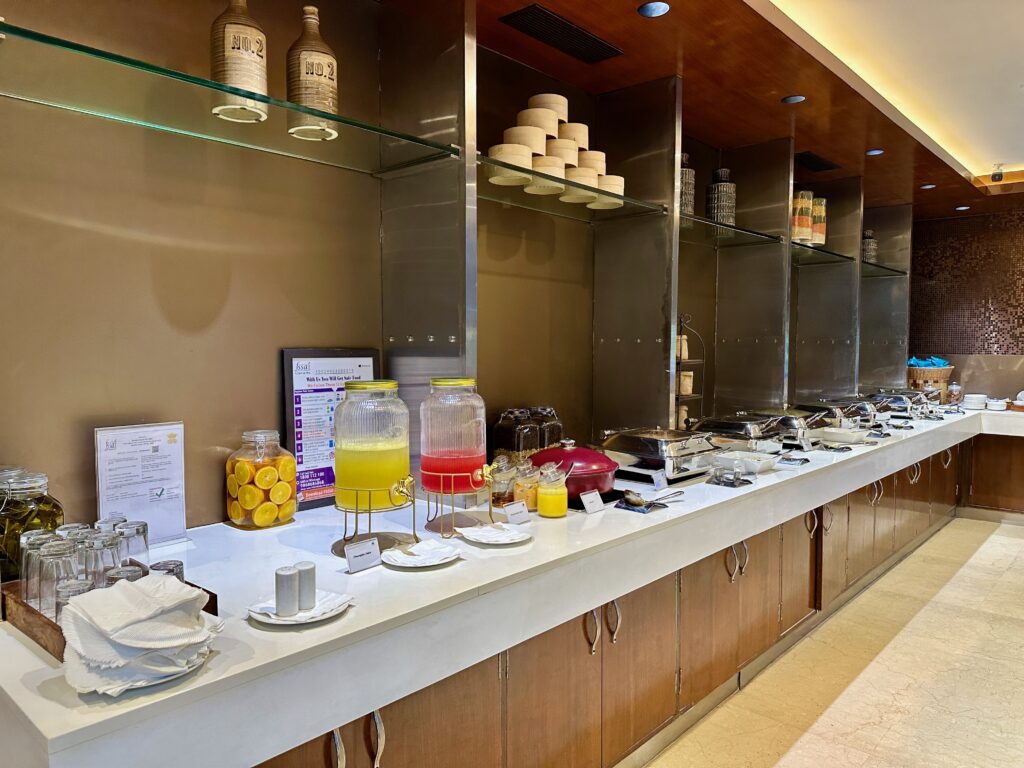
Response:
[[[0,486],[0,581],[6,582],[20,571],[22,534],[56,530],[63,524],[63,506],[49,495],[49,478],[42,472],[8,470]]]

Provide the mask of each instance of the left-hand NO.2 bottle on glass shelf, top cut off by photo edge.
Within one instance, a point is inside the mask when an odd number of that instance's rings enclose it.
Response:
[[[266,34],[249,14],[246,0],[229,0],[210,31],[210,75],[232,88],[266,95]],[[224,94],[213,114],[232,123],[262,123],[266,104]]]

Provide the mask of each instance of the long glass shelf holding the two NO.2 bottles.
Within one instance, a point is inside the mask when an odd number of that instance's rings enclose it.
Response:
[[[89,48],[0,23],[0,95],[168,133],[383,174],[440,158],[456,146],[311,110],[221,83]],[[218,118],[214,108],[247,103],[262,122]],[[337,132],[330,141],[295,138],[288,130],[315,123]]]

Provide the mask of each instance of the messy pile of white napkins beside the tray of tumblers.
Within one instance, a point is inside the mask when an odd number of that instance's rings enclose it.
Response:
[[[203,612],[208,599],[165,574],[73,597],[60,613],[68,683],[117,696],[198,669],[223,627]]]

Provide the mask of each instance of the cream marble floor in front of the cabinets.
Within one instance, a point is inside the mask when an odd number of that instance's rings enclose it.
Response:
[[[955,519],[650,768],[1024,766],[1024,526]]]

